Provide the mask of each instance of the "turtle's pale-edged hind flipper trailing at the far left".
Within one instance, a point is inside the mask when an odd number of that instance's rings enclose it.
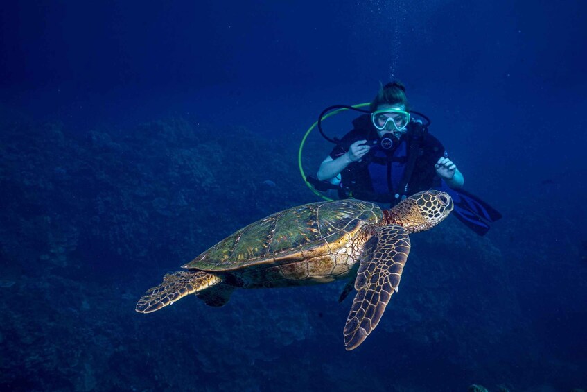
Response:
[[[185,296],[208,289],[220,282],[222,282],[222,279],[218,278],[218,276],[204,271],[167,273],[163,277],[163,283],[148,289],[134,309],[139,313],[155,312],[161,307],[171,305]]]

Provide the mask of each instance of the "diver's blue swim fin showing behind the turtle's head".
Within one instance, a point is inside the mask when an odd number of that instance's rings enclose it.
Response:
[[[489,228],[491,228],[489,223],[493,223],[502,217],[498,210],[477,196],[463,189],[450,188],[444,180],[440,190],[453,198],[453,203],[455,203],[453,215],[478,235],[486,235]]]

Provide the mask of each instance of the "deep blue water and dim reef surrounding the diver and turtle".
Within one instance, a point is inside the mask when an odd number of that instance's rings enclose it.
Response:
[[[0,390],[587,389],[585,1],[0,6]],[[344,350],[344,281],[134,311],[168,271],[319,201],[298,148],[398,79],[503,214],[411,235]],[[331,136],[356,114],[325,121]],[[332,145],[314,131],[301,167]]]

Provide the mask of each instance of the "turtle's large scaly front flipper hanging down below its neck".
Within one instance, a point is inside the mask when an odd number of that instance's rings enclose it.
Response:
[[[344,325],[344,347],[357,348],[375,329],[397,290],[410,253],[408,232],[400,225],[380,228],[363,248],[355,280],[358,291]]]

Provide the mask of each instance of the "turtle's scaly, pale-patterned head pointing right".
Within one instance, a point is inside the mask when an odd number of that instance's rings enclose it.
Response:
[[[428,230],[444,221],[453,207],[453,199],[445,192],[419,192],[389,210],[387,224],[401,225],[408,232]]]

